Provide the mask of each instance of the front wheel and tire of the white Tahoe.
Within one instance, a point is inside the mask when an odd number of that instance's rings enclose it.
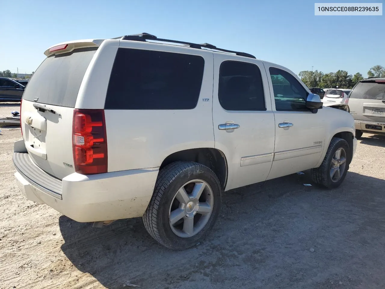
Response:
[[[332,138],[321,165],[311,169],[313,181],[328,189],[339,187],[349,170],[350,154],[345,139]]]

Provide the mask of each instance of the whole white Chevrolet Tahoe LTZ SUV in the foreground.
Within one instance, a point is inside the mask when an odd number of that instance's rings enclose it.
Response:
[[[223,191],[308,169],[335,188],[355,153],[348,112],[250,54],[138,34],[45,55],[23,94],[15,177],[79,222],[142,217],[185,249],[212,229]]]

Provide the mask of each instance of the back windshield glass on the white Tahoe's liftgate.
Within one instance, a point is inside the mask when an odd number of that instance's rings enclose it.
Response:
[[[47,57],[33,73],[23,99],[57,106],[75,107],[85,71],[97,47]]]

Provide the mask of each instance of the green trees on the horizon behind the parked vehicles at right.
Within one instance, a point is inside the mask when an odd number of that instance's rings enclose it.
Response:
[[[321,88],[352,88],[358,81],[363,79],[361,73],[357,72],[352,76],[345,70],[323,73],[321,71],[301,71],[298,76],[307,87]],[[368,71],[368,77],[385,77],[385,67],[376,65]]]

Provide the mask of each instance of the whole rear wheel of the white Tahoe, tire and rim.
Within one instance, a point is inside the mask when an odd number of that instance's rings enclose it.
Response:
[[[207,166],[177,161],[161,171],[143,215],[147,232],[160,244],[183,250],[199,244],[221,208],[221,185]]]

